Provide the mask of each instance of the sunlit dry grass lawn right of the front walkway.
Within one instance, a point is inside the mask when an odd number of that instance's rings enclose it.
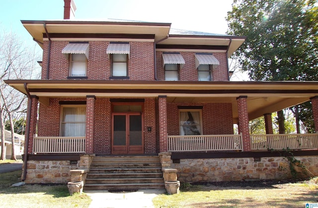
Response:
[[[180,189],[180,194],[161,194],[154,198],[156,208],[305,208],[306,203],[318,203],[318,178],[309,181],[280,182],[256,186],[192,185]],[[248,182],[252,183],[252,182]],[[266,182],[265,182],[266,183]]]

